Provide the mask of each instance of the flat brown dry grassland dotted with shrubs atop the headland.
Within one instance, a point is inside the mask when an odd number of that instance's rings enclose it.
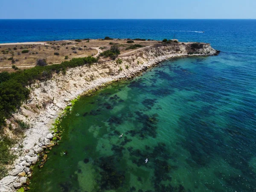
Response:
[[[34,66],[38,59],[46,59],[48,64],[61,63],[72,58],[87,57],[89,55],[96,55],[98,51],[94,47],[106,47],[102,51],[111,48],[111,44],[119,45],[120,54],[133,51],[134,49],[126,50],[127,47],[133,44],[141,44],[143,47],[157,44],[158,41],[134,41],[132,44],[127,44],[127,39],[122,40],[82,40],[81,42],[65,40],[65,41],[49,41],[45,44],[16,44],[16,45],[0,45],[0,67],[20,66]],[[28,53],[22,53],[22,50],[29,50]],[[73,50],[75,49],[75,50]],[[8,52],[3,54],[3,52]],[[59,55],[54,55],[58,52]],[[65,60],[65,56],[68,59]],[[102,61],[108,58],[102,58]],[[27,67],[20,67],[20,69],[27,69]],[[0,68],[0,72],[13,72],[12,68]]]

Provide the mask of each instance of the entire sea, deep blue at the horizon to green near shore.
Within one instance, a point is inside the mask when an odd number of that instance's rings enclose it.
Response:
[[[174,35],[221,53],[82,96],[31,192],[256,191],[256,20],[0,20],[0,42]]]

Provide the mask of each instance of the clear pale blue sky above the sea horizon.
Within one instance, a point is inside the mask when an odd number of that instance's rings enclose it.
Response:
[[[256,0],[0,0],[0,19],[256,19]]]

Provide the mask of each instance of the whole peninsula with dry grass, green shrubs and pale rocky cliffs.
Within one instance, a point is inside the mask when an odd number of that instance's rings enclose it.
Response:
[[[109,37],[0,44],[0,52],[1,192],[29,189],[30,166],[39,158],[45,163],[44,150],[61,139],[52,123],[79,95],[131,79],[168,58],[219,53],[206,43]],[[6,99],[14,90],[19,94]]]

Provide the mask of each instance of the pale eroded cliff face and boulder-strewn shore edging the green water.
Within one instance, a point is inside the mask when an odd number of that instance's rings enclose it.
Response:
[[[51,149],[58,135],[51,128],[54,120],[61,115],[66,106],[77,96],[90,90],[97,90],[112,81],[131,79],[168,58],[186,56],[218,55],[219,51],[210,44],[203,44],[202,48],[191,52],[189,44],[169,44],[152,46],[137,51],[132,55],[118,57],[116,60],[85,65],[67,70],[65,74],[55,74],[52,79],[38,81],[32,84],[30,100],[14,114],[15,119],[23,120],[30,125],[23,140],[23,148],[13,148],[20,151],[15,161],[14,169],[9,176],[0,180],[0,192],[13,192],[23,186],[29,189],[29,177],[32,176],[31,165],[40,160],[39,167],[47,161],[45,149]],[[11,119],[7,120],[11,123]],[[15,128],[15,125],[13,125]]]

